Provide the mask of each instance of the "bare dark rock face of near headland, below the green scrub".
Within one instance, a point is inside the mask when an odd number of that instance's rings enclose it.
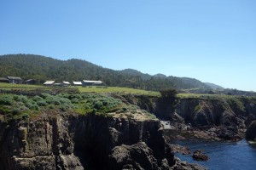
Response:
[[[47,116],[10,125],[1,122],[0,128],[1,170],[167,169],[174,164],[158,120]],[[122,148],[129,150],[128,155]]]

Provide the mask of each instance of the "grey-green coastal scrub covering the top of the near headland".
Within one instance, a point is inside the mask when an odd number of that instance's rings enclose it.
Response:
[[[135,105],[125,105],[120,99],[102,94],[47,94],[36,96],[0,94],[0,115],[7,122],[13,119],[26,119],[40,115],[42,112],[75,112],[81,115],[96,114],[113,116],[113,114],[134,115],[139,112],[148,118],[155,118],[147,111],[140,111]],[[132,117],[132,116],[131,116]]]

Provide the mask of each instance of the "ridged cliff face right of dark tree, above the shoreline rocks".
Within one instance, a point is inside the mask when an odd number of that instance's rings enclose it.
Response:
[[[237,125],[235,113],[224,99],[181,99],[177,114],[195,127]]]

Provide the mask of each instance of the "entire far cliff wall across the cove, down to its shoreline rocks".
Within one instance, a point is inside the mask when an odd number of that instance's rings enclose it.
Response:
[[[161,119],[171,121],[178,129],[206,131],[203,138],[237,140],[253,120],[256,120],[255,99],[248,98],[188,98],[179,99],[176,107],[164,105],[162,99],[125,96],[126,102],[138,105]],[[164,104],[163,104],[164,102]],[[198,134],[198,133],[197,133]],[[196,135],[197,135],[196,134]]]

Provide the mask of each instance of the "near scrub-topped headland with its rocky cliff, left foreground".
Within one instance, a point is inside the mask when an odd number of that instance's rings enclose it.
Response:
[[[0,170],[205,169],[178,160],[154,115],[102,94],[1,94]]]

